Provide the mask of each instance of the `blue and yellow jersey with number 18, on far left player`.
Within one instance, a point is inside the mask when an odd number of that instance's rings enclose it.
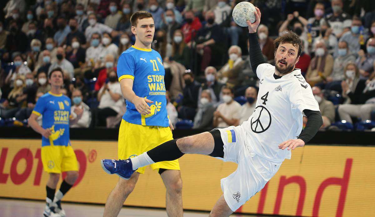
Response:
[[[36,102],[33,113],[43,115],[42,127],[51,129],[51,136],[42,136],[42,146],[69,146],[69,115],[71,99],[68,96],[48,92]]]

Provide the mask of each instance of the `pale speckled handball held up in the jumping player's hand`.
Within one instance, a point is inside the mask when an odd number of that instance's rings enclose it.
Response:
[[[236,7],[234,7],[232,17],[237,25],[246,27],[248,26],[246,23],[247,20],[249,20],[251,23],[255,23],[255,11],[257,10],[252,3],[240,2],[236,5]]]

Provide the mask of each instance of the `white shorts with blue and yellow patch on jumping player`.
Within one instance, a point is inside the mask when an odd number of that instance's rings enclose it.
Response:
[[[218,129],[224,143],[223,161],[238,164],[237,170],[221,179],[221,190],[229,208],[236,211],[278,172],[281,163],[273,163],[246,147],[246,133],[242,126]]]

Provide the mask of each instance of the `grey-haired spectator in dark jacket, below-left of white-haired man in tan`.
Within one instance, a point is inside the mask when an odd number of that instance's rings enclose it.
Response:
[[[208,90],[210,93],[210,101],[212,102],[213,106],[216,108],[217,105],[222,103],[222,92],[221,89],[224,86],[223,83],[220,83],[217,80],[217,71],[216,68],[213,66],[208,66],[204,70],[204,76],[206,78],[206,82],[199,87],[198,93],[198,105],[201,100],[200,96],[203,90]]]

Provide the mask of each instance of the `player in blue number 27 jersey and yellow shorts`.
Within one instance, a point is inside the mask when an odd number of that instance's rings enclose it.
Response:
[[[173,127],[166,112],[162,57],[151,49],[155,33],[153,17],[149,12],[138,11],[132,15],[130,22],[135,44],[121,54],[117,63],[118,80],[126,99],[126,113],[118,135],[120,159],[135,157],[173,139]],[[103,162],[102,167],[110,173]],[[151,164],[151,168],[158,169],[165,184],[168,216],[183,216],[178,161]],[[131,177],[119,175],[120,179],[105,204],[104,216],[118,215],[140,173],[144,173],[144,167],[138,168]]]

